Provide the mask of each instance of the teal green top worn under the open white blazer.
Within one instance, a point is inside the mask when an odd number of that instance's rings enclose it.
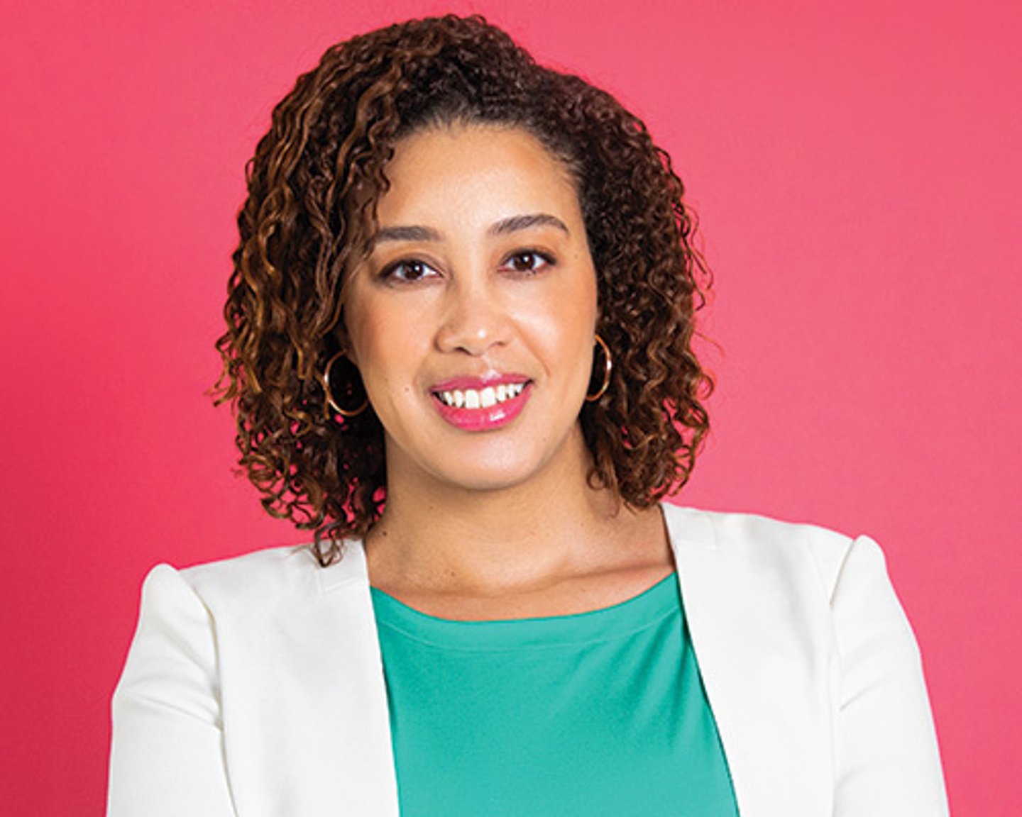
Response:
[[[676,575],[512,621],[372,597],[403,817],[737,817]]]

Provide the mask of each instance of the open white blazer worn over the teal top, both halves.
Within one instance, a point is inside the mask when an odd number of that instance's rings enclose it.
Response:
[[[663,513],[741,817],[946,815],[919,653],[876,543]],[[113,696],[107,813],[398,817],[359,543],[325,569],[279,547],[152,570]]]

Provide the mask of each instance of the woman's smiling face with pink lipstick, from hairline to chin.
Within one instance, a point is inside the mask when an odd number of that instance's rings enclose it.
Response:
[[[596,273],[564,166],[524,131],[455,126],[402,140],[386,173],[344,316],[390,486],[585,467]]]

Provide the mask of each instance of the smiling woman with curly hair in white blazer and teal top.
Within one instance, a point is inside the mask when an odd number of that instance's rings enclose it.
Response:
[[[659,504],[706,276],[642,123],[421,20],[330,49],[248,187],[223,398],[316,544],[152,571],[110,814],[945,813],[877,546]]]

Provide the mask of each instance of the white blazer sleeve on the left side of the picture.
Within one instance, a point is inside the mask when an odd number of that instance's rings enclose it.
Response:
[[[113,694],[108,817],[233,817],[208,611],[176,570],[146,577]]]

